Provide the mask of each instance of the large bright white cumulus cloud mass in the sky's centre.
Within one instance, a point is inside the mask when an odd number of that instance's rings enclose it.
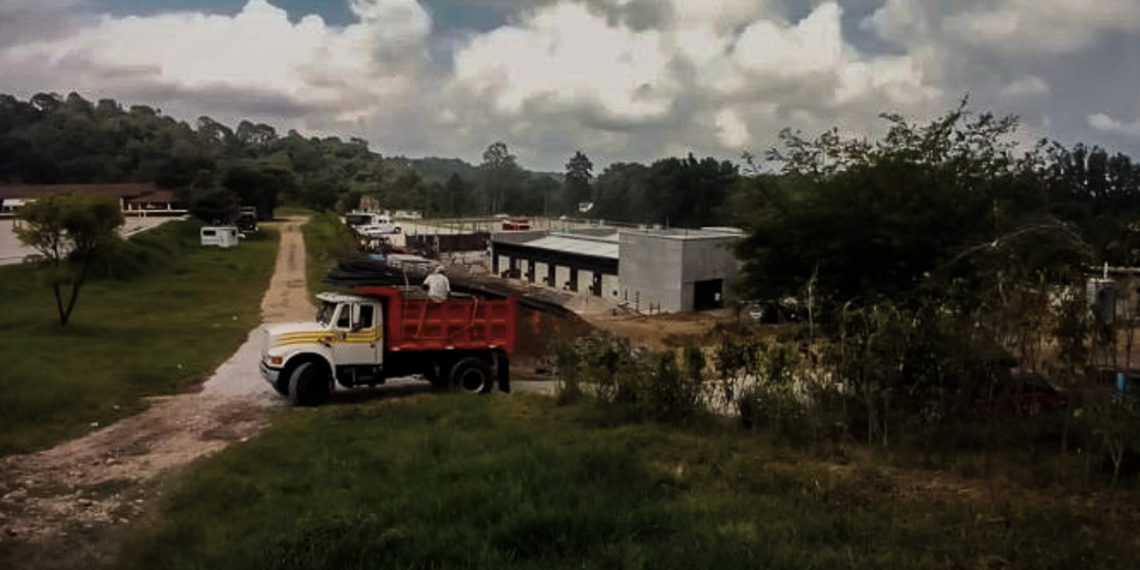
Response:
[[[694,152],[735,154],[788,122],[816,129],[844,114],[866,125],[942,97],[926,62],[853,47],[836,2],[798,21],[764,2],[668,7],[660,27],[635,30],[562,2],[475,36],[456,51],[447,114],[519,137],[567,117],[584,141],[597,130],[652,129]],[[606,140],[630,146],[628,137]],[[660,152],[663,142],[653,142]]]

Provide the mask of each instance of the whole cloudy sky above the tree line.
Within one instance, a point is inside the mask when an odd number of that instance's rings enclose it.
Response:
[[[596,172],[969,96],[1140,157],[1140,0],[0,0],[0,92],[41,91]]]

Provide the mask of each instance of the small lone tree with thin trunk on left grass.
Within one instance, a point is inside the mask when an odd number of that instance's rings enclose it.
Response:
[[[106,196],[60,194],[25,205],[18,218],[23,223],[16,237],[39,252],[36,262],[55,293],[59,324],[66,325],[91,263],[120,239],[119,203]]]

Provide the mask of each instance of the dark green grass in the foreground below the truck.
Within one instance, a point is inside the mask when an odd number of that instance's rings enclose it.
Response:
[[[813,466],[814,465],[814,466]],[[719,426],[611,423],[539,397],[279,416],[168,482],[135,568],[1123,568],[1066,508],[903,498]]]

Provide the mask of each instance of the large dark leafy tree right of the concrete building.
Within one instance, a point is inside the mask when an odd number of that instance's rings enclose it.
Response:
[[[751,179],[757,207],[738,219],[750,230],[738,252],[754,294],[795,295],[813,282],[836,306],[977,306],[1015,276],[1033,282],[1081,261],[1080,236],[1045,207],[1039,169],[1013,154],[1015,120],[964,104],[926,125],[886,119],[877,144],[781,135],[769,158],[782,174]]]

